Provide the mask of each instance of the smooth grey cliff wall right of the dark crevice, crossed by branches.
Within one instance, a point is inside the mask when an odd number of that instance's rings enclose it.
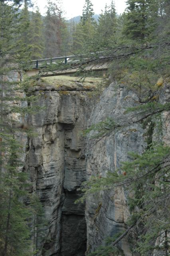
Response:
[[[136,95],[132,91],[116,83],[110,84],[95,107],[91,124],[100,122],[106,117],[113,118],[119,124],[126,124],[127,120],[124,120],[123,113],[128,106],[134,106],[135,100]],[[91,175],[105,176],[108,171],[116,172],[122,161],[129,160],[129,151],[142,153],[146,146],[143,134],[141,125],[133,124],[111,132],[109,136],[94,143],[93,147],[89,143],[87,179]],[[87,252],[104,244],[108,236],[114,236],[125,230],[125,221],[129,216],[126,198],[125,191],[120,187],[87,198]],[[131,255],[126,240],[121,240],[119,246],[125,256]]]

